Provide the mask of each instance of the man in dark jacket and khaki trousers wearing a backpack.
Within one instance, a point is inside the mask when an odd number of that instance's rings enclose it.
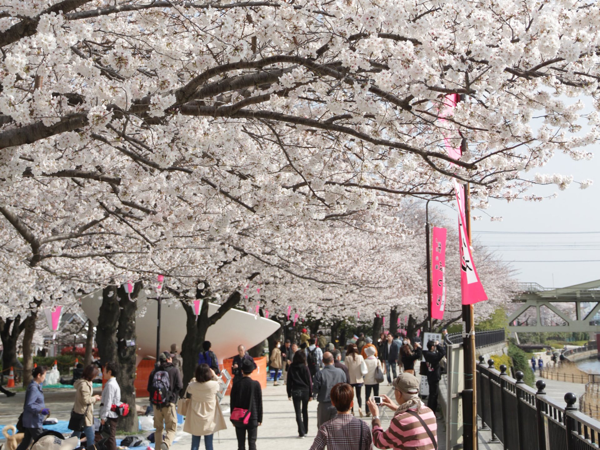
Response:
[[[161,353],[158,356],[158,367],[152,371],[148,379],[150,401],[154,405],[154,427],[156,428],[154,448],[157,450],[169,450],[175,438],[177,431],[175,406],[183,387],[181,373],[173,365],[173,356],[169,352]],[[163,428],[166,434],[164,441]]]

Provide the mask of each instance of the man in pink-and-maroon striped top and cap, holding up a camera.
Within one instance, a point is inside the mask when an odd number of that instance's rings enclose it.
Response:
[[[392,382],[395,400],[382,395],[381,406],[395,411],[387,431],[379,420],[379,406],[370,398],[367,406],[373,415],[373,445],[377,448],[437,450],[435,413],[419,398],[419,381],[413,374],[401,373]]]

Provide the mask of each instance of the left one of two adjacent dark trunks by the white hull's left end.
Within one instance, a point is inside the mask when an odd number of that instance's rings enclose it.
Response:
[[[119,302],[116,286],[107,286],[102,290],[102,304],[98,312],[96,342],[102,365],[107,362],[118,363],[116,330],[119,322]]]

